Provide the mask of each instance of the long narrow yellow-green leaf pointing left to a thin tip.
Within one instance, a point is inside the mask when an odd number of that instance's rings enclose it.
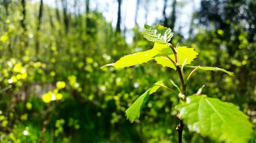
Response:
[[[146,63],[153,59],[155,55],[158,54],[158,51],[155,49],[141,51],[129,55],[125,55],[122,58],[120,58],[116,63],[114,64],[108,64],[105,66],[114,66],[117,68],[123,68],[123,67],[130,67],[137,64]],[[103,66],[103,67],[105,67]],[[103,68],[101,67],[101,68]]]

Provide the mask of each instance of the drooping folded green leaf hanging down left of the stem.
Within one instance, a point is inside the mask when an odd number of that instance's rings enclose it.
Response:
[[[157,81],[158,84],[163,84],[162,81]],[[142,109],[142,106],[147,102],[149,96],[156,92],[160,86],[156,85],[156,83],[148,89],[145,93],[143,93],[126,111],[126,117],[130,120],[131,123],[134,122],[135,119],[139,119],[140,117],[140,111]]]

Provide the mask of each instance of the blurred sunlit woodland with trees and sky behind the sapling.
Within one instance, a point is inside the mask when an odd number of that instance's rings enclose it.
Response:
[[[176,90],[174,70],[100,69],[153,47],[145,23],[195,48],[191,65],[234,72],[197,71],[187,95],[205,84],[203,94],[233,102],[255,127],[255,17],[254,0],[0,0],[0,142],[177,142],[172,93],[152,95],[133,124],[124,112],[158,80]],[[214,142],[187,128],[183,141]]]

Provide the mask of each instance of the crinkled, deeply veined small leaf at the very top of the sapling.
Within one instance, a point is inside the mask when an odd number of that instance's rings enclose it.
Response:
[[[164,44],[170,41],[170,38],[173,37],[174,33],[172,33],[170,28],[162,25],[151,26],[145,24],[142,35],[148,41]]]

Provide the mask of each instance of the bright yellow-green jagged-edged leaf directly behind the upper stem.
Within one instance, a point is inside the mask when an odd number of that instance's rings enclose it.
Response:
[[[170,59],[175,61],[175,55],[174,55],[172,49],[170,49],[169,47],[161,49],[161,48],[159,48],[159,45],[155,45],[155,46],[158,47],[155,49],[160,49],[161,52],[167,54]],[[170,53],[172,53],[172,54],[170,54]],[[186,59],[187,60],[185,62],[185,65],[190,64],[195,58],[197,58],[197,55],[198,55],[198,53],[196,51],[194,51],[194,48],[187,48],[185,46],[177,48],[177,57],[178,57],[179,65],[182,65]],[[157,61],[157,63],[162,65],[163,67],[170,67],[170,68],[173,68],[176,70],[176,66],[168,58],[166,58],[164,56],[156,56],[155,61]]]

